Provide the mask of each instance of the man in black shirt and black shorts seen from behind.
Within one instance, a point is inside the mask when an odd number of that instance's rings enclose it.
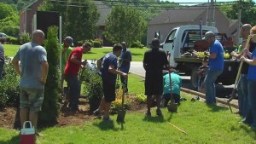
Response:
[[[161,95],[163,94],[163,73],[162,70],[168,66],[166,52],[160,49],[160,40],[152,40],[152,49],[144,54],[143,67],[146,71],[145,95],[147,95],[147,116],[151,116],[150,108],[153,95],[156,98],[156,114],[162,116],[160,110]]]

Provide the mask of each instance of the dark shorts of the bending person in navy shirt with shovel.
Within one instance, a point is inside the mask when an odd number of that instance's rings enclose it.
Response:
[[[102,80],[103,93],[106,102],[115,101],[115,84]]]

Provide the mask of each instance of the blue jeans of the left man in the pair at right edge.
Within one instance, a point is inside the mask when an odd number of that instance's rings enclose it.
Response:
[[[242,118],[245,118],[248,111],[248,89],[247,89],[247,74],[241,74],[238,84],[238,105],[239,111],[242,113]]]

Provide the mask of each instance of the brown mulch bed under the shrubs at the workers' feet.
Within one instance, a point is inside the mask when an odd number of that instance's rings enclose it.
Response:
[[[129,98],[131,99],[131,106],[128,111],[143,112],[147,107],[145,103],[138,102],[134,96],[129,95]],[[67,107],[61,107],[58,123],[55,126],[80,125],[97,118],[90,113],[89,101],[87,99],[79,99],[79,109],[79,112],[73,113]],[[0,127],[20,129],[20,115],[17,108],[7,107],[0,112]]]

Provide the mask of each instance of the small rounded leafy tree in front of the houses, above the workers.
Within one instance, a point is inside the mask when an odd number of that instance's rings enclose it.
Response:
[[[106,36],[113,43],[125,41],[129,46],[141,39],[146,28],[145,20],[137,9],[113,7],[106,20]]]

